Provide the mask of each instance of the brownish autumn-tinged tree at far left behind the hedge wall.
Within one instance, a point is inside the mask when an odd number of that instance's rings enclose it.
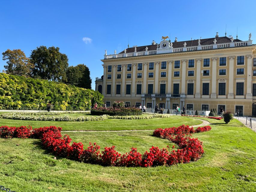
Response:
[[[20,49],[7,49],[2,53],[3,60],[8,60],[5,65],[5,72],[12,75],[30,76],[34,65]]]

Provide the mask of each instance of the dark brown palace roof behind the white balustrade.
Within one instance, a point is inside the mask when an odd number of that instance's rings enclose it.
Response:
[[[200,45],[212,45],[214,44],[213,41],[216,39],[216,44],[222,44],[222,43],[230,43],[231,40],[228,37],[216,37],[216,38],[207,38],[207,39],[200,39]],[[234,39],[233,42],[239,42],[241,40]],[[188,41],[178,41],[173,42],[173,48],[180,48],[183,47],[184,42],[186,42],[187,47],[188,46],[198,46],[198,39],[195,40],[188,40]],[[158,44],[159,45],[159,44]],[[145,46],[137,46],[136,51],[146,51],[146,47],[148,47],[148,51],[156,50],[158,45],[145,45]],[[132,53],[135,51],[135,47],[130,47],[126,49],[126,53]],[[119,54],[124,53],[124,50],[120,52]]]

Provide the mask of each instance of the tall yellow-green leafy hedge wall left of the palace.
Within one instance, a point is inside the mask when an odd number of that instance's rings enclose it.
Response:
[[[89,110],[95,102],[103,105],[103,95],[74,85],[0,73],[1,110],[45,110],[47,101],[54,110]]]

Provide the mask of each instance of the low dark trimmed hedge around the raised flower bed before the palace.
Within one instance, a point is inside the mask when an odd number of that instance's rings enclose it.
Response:
[[[92,115],[110,115],[110,116],[131,116],[131,115],[142,115],[142,110],[133,107],[119,107],[119,108],[104,108],[98,107],[97,109],[91,109]]]

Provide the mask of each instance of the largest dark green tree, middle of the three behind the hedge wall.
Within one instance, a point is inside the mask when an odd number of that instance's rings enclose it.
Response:
[[[30,59],[35,65],[33,77],[63,82],[67,80],[68,56],[59,52],[59,47],[37,47],[31,52]]]

